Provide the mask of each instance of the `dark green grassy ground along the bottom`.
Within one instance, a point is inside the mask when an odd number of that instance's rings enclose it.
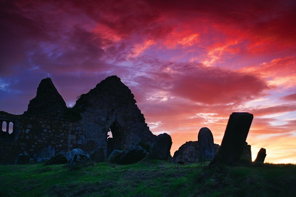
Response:
[[[295,197],[296,165],[0,165],[0,197]]]

